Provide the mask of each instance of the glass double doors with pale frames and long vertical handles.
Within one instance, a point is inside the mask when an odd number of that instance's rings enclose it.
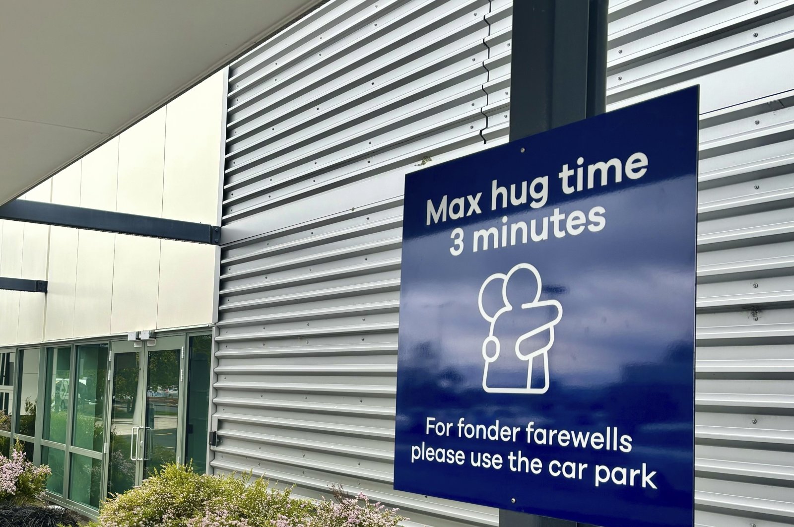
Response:
[[[110,357],[107,494],[129,490],[183,455],[179,423],[184,336],[135,347],[114,342]]]

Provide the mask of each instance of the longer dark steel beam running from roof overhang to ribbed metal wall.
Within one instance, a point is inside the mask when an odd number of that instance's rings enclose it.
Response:
[[[221,228],[214,225],[23,199],[0,206],[0,219],[191,241],[197,244],[221,244]]]

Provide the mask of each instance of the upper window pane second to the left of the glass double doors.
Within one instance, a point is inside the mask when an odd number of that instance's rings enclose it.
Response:
[[[69,410],[69,367],[71,347],[47,350],[46,401],[44,408],[44,439],[64,443]]]

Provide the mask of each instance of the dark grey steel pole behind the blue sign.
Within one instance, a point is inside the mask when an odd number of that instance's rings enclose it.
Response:
[[[606,110],[607,0],[515,0],[510,140]],[[499,527],[593,527],[499,510]]]

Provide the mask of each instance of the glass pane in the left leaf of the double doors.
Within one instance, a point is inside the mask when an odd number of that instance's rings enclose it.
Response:
[[[110,401],[110,458],[107,495],[135,486],[136,466],[130,459],[135,417],[141,415],[138,379],[141,352],[116,353],[113,360],[113,396]]]

